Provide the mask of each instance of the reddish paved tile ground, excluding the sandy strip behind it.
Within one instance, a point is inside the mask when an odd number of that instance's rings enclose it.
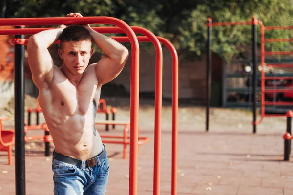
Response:
[[[140,147],[138,195],[152,195],[153,133],[140,134],[151,141]],[[282,133],[181,129],[178,138],[178,195],[293,195],[293,163],[282,161]],[[161,195],[170,195],[171,190],[170,140],[170,131],[163,130]],[[53,194],[52,157],[43,156],[43,147],[42,142],[26,145],[27,195]],[[106,144],[106,149],[110,164],[106,194],[127,195],[129,158],[122,159],[121,145]],[[7,162],[6,153],[0,152],[0,194],[14,195],[15,167]]]

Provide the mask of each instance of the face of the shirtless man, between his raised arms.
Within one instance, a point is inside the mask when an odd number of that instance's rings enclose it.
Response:
[[[63,42],[63,47],[58,50],[63,65],[73,74],[82,74],[89,63],[93,53],[90,41]]]

